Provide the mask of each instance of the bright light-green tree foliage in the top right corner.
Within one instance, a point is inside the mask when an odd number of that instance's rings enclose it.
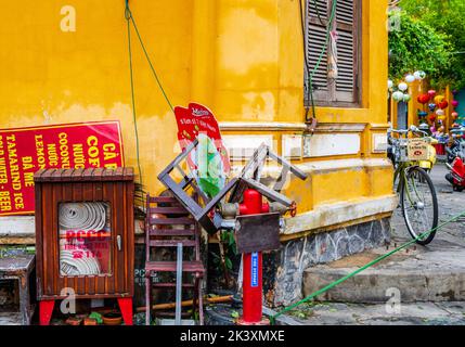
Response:
[[[448,64],[439,66],[435,81],[465,88],[465,0],[402,0],[400,7],[445,37]]]

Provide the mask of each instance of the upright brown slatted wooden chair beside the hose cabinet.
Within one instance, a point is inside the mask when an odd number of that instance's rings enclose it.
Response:
[[[189,279],[182,283],[183,291],[193,292],[193,312],[198,311],[199,324],[204,324],[202,282],[205,273],[201,260],[201,228],[190,213],[175,198],[170,196],[146,196],[145,218],[145,323],[151,324],[152,290],[176,290],[175,282],[153,282],[155,274],[175,274],[177,271],[176,247],[182,243],[183,254],[191,253],[192,259],[182,259],[182,279]],[[172,248],[173,259],[158,261],[152,259],[153,249],[164,247]]]

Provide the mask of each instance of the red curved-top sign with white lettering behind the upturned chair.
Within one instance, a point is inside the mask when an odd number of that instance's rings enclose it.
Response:
[[[231,169],[228,151],[221,140],[220,127],[210,110],[197,103],[190,103],[188,108],[175,107],[178,123],[178,140],[184,150],[199,133],[211,139],[221,155],[224,172]]]

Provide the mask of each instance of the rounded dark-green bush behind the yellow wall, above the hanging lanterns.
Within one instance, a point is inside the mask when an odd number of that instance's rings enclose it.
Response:
[[[389,75],[402,79],[408,73],[424,70],[431,83],[441,87],[450,82],[452,46],[447,35],[405,11],[390,13],[398,23],[389,31]]]

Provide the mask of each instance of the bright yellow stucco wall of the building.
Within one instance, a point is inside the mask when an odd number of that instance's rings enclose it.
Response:
[[[126,165],[135,165],[124,0],[17,0],[2,3],[0,128],[119,119]],[[132,0],[132,13],[175,105],[206,104],[220,121],[303,121],[303,50],[297,0]],[[61,10],[76,10],[76,31]],[[359,108],[318,108],[322,124],[362,124],[358,154],[296,162],[379,159],[372,134],[386,124],[386,1],[363,0],[362,101]],[[176,123],[133,35],[135,102],[144,183],[177,154]],[[284,133],[301,130],[237,130]],[[281,145],[277,146],[280,149]],[[380,163],[380,164],[379,164]],[[391,168],[365,162],[315,171],[287,189],[299,211],[319,205],[391,196]],[[315,164],[317,165],[317,164]],[[310,165],[311,166],[311,165]],[[309,166],[309,167],[310,167]],[[309,169],[310,170],[310,169]],[[310,170],[311,171],[311,170]],[[309,171],[309,172],[310,172]],[[341,187],[344,182],[344,187]],[[385,210],[384,210],[385,211]],[[305,228],[305,227],[302,227]]]

